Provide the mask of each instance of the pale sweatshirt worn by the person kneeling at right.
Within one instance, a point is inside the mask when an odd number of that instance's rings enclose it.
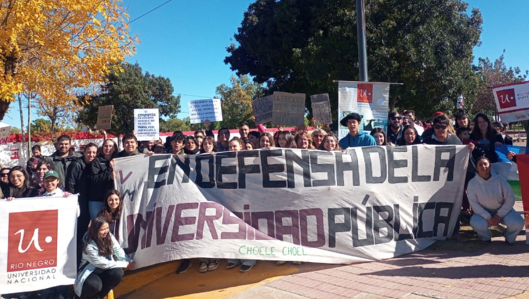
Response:
[[[513,188],[497,173],[492,173],[490,179],[476,175],[466,191],[472,210],[484,219],[492,217],[485,209],[497,210],[497,215],[503,218],[515,206]]]

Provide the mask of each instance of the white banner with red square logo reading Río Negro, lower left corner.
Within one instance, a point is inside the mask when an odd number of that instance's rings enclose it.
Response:
[[[77,196],[0,199],[0,292],[73,285]]]

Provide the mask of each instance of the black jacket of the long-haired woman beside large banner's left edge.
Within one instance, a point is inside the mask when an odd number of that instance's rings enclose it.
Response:
[[[109,160],[104,157],[97,157],[89,166],[89,201],[104,201],[106,192],[114,190],[114,180],[110,178],[112,174]]]

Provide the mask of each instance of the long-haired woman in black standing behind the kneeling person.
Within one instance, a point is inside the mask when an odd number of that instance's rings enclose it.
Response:
[[[495,131],[488,116],[483,113],[477,113],[473,122],[470,138],[477,142],[476,151],[472,153],[474,160],[485,156],[491,163],[498,162],[495,146],[504,144],[504,137]]]

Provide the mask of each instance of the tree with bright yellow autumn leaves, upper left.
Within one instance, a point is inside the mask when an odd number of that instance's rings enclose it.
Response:
[[[135,52],[120,0],[0,1],[0,120],[16,93],[73,102]]]

